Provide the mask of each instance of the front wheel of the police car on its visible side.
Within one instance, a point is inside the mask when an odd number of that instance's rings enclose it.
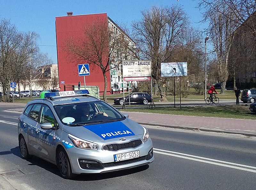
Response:
[[[56,162],[62,178],[70,179],[75,176],[72,173],[68,154],[66,153],[64,148],[59,148],[57,152]]]

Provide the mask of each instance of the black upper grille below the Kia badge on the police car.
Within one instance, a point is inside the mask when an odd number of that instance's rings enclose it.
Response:
[[[118,151],[126,148],[135,148],[137,146],[140,146],[142,144],[141,140],[133,140],[127,143],[116,143],[116,144],[108,144],[104,145],[102,147],[102,150],[108,150],[108,151]]]

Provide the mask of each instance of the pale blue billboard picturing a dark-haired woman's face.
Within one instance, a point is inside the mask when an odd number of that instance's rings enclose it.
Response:
[[[187,76],[187,62],[161,63],[161,76]]]

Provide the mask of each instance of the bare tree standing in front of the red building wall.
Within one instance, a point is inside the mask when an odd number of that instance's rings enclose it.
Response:
[[[107,102],[107,75],[106,73],[112,69],[110,64],[121,62],[121,56],[125,56],[122,44],[129,45],[127,37],[117,28],[108,27],[106,20],[97,20],[91,25],[84,28],[84,36],[80,39],[67,40],[65,49],[72,58],[81,62],[88,62],[89,64],[100,67],[104,76],[104,92],[103,100]],[[124,43],[124,41],[126,43]],[[119,56],[115,56],[118,54]]]

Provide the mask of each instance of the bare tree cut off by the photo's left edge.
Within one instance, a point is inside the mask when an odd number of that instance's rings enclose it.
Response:
[[[35,33],[18,32],[10,21],[0,21],[0,79],[4,93],[9,94],[10,82],[21,76],[28,58],[35,51],[32,46],[35,38]]]

